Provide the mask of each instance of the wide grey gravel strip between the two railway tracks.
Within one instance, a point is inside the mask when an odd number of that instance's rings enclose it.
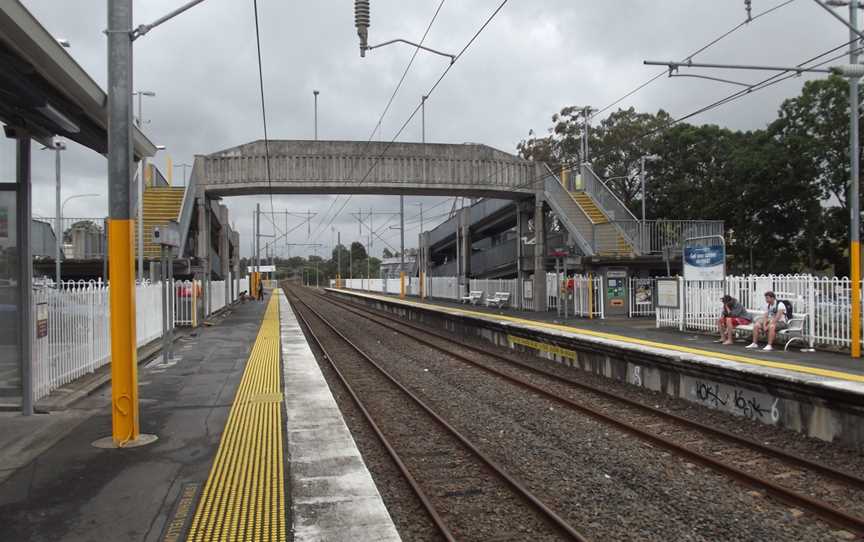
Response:
[[[847,535],[345,310],[317,306],[595,539]]]

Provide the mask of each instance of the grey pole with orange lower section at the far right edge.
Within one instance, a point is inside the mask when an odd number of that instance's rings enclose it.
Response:
[[[849,2],[849,64],[858,64],[858,0]],[[858,201],[859,160],[858,148],[858,77],[849,78],[849,267],[852,279],[852,357],[861,357],[861,240],[859,233],[860,203]]]

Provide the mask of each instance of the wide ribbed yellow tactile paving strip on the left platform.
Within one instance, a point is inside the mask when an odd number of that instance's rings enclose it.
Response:
[[[286,540],[280,295],[270,296],[188,541]]]

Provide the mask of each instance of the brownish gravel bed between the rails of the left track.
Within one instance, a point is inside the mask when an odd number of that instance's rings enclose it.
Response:
[[[316,335],[459,540],[562,540],[559,531],[402,391],[317,323]]]

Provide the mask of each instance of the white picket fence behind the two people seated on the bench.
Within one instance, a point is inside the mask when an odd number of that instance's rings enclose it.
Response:
[[[714,331],[720,318],[720,298],[729,294],[749,309],[762,309],[764,294],[773,291],[778,299],[792,302],[793,313],[807,315],[804,334],[810,345],[849,348],[851,281],[847,277],[812,275],[730,276],[725,281],[678,279],[679,298],[684,308],[658,308],[657,327]],[[862,312],[862,307],[857,307]],[[860,339],[859,339],[860,340]]]

